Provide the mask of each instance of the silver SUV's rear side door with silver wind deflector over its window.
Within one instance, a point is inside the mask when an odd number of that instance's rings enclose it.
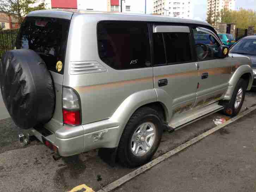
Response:
[[[167,103],[172,116],[192,109],[198,70],[188,26],[153,25],[154,87],[158,100]]]

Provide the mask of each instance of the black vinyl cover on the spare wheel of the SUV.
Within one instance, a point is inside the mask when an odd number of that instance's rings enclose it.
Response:
[[[0,63],[0,85],[5,106],[20,128],[30,129],[53,117],[54,83],[35,51],[7,51]]]

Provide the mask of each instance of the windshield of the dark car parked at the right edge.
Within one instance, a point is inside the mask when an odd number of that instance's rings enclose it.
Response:
[[[256,39],[242,39],[230,50],[230,53],[256,55]]]

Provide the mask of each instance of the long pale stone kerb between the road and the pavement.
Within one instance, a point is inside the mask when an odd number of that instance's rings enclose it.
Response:
[[[191,139],[188,142],[185,142],[182,145],[179,145],[179,147],[172,149],[171,151],[157,157],[156,159],[152,160],[151,162],[148,162],[147,164],[145,164],[144,166],[141,166],[140,168],[136,169],[135,171],[124,175],[123,177],[121,177],[120,179],[117,179],[116,181],[112,182],[109,185],[106,185],[105,187],[103,187],[102,189],[100,189],[97,192],[110,192],[112,190],[114,190],[115,188],[123,185],[124,183],[126,183],[127,181],[133,179],[135,176],[147,171],[148,169],[152,168],[153,166],[157,165],[158,163],[168,159],[169,157],[171,157],[172,155],[175,155],[176,153],[178,153],[179,151],[182,151],[183,149],[189,147],[190,145],[193,145],[194,143],[202,140],[203,138],[213,134],[214,132],[220,130],[221,128],[225,127],[226,125],[233,123],[234,121],[236,121],[237,119],[240,119],[241,117],[244,117],[246,114],[254,111],[256,109],[256,106],[254,107],[250,107],[249,109],[247,109],[246,111],[238,114],[236,117],[233,117],[229,120],[227,120],[226,122],[224,122],[221,125],[218,125],[206,132],[204,132],[203,134],[196,136],[195,138]]]

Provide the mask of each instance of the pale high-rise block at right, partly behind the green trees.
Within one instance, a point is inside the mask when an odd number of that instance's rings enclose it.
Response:
[[[214,15],[224,8],[232,11],[235,9],[236,0],[207,0],[207,11],[212,10]]]

